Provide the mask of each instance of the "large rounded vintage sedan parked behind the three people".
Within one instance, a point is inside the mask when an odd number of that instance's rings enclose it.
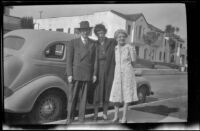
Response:
[[[21,29],[4,35],[4,110],[27,114],[32,123],[61,118],[67,108],[66,51],[76,35]],[[152,94],[136,77],[140,102]]]

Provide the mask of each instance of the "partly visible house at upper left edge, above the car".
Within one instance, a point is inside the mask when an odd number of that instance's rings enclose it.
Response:
[[[3,15],[3,31],[4,31],[4,33],[21,28],[21,25],[20,25],[21,18],[15,17],[15,16],[10,16],[10,9],[12,9],[11,6],[6,6],[4,8],[4,15]]]

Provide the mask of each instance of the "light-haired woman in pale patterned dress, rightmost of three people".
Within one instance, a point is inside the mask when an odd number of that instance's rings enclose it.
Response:
[[[115,106],[113,122],[119,121],[119,103],[124,104],[122,123],[127,122],[128,104],[138,100],[134,73],[136,52],[134,46],[126,42],[127,36],[125,30],[119,29],[115,32],[118,44],[115,47],[115,74],[109,99]]]

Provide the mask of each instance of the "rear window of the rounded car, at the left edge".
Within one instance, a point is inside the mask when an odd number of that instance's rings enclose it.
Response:
[[[8,36],[4,38],[4,47],[13,50],[20,50],[24,45],[24,42],[25,39],[22,37]]]

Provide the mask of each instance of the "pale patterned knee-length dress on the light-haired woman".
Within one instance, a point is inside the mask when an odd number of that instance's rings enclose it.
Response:
[[[135,61],[135,48],[130,44],[115,47],[115,75],[110,94],[111,102],[137,101],[137,87],[134,68],[131,65]]]

